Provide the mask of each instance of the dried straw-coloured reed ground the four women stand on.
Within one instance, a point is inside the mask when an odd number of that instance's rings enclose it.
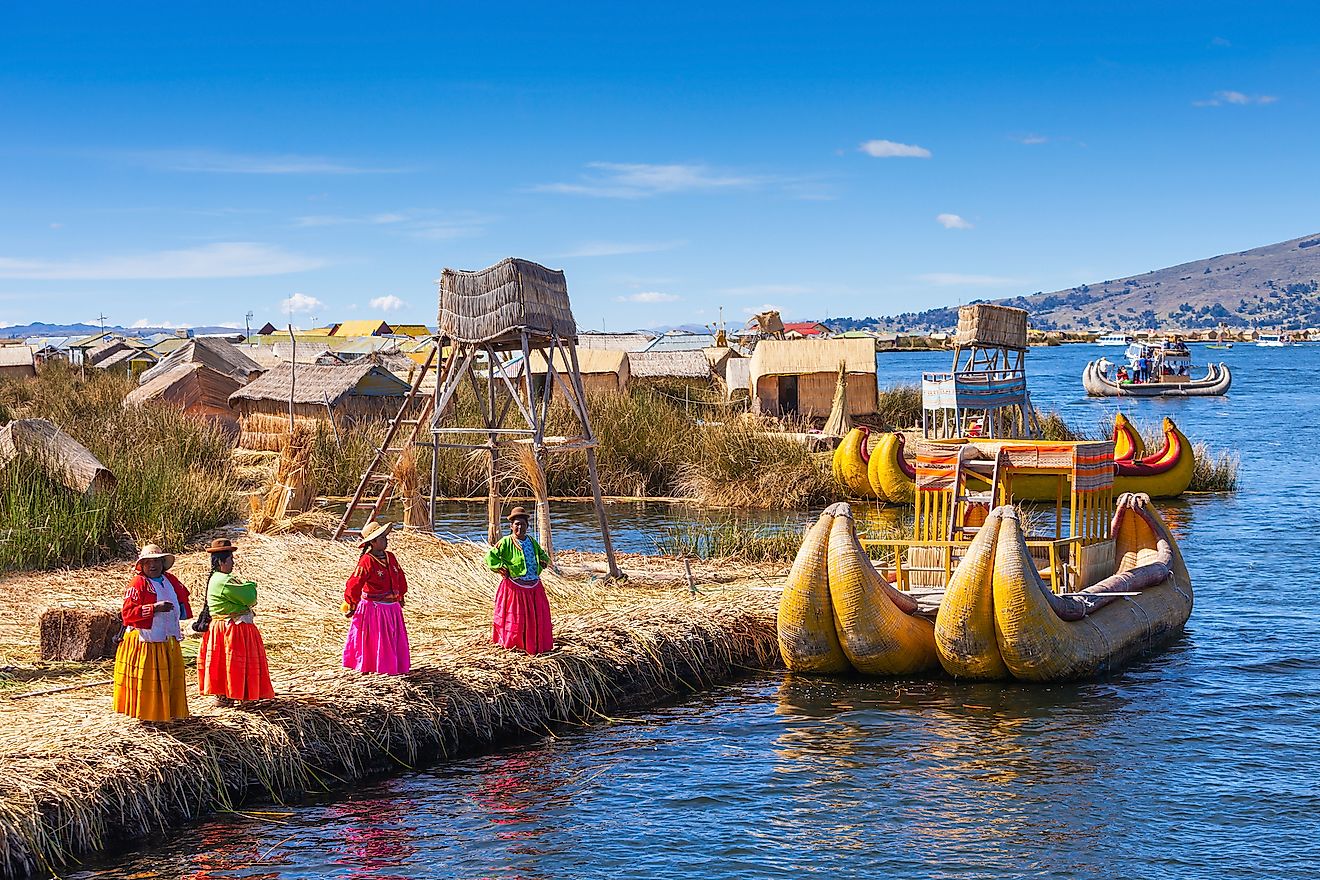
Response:
[[[48,678],[9,689],[29,695],[0,697],[0,875],[58,869],[79,852],[248,800],[286,801],[556,724],[609,720],[620,707],[779,665],[777,596],[748,587],[775,583],[781,569],[697,563],[706,595],[689,596],[673,559],[626,557],[630,582],[612,584],[590,577],[605,570],[599,557],[561,553],[565,577],[546,575],[557,650],[527,657],[490,644],[495,581],[480,548],[396,533],[413,673],[358,676],[339,665],[347,623],[338,611],[356,549],[302,536],[242,536],[239,545],[239,573],[260,586],[257,624],[279,697],[216,708],[191,678],[195,716],[145,726],[111,710],[108,685],[34,694],[70,681]],[[194,595],[207,571],[203,553],[174,567]],[[114,606],[127,575],[115,565],[0,578],[0,665],[33,666],[45,607]],[[110,664],[92,670],[92,681],[110,678]]]

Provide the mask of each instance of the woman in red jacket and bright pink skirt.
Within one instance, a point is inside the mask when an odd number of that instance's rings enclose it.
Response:
[[[392,522],[362,529],[362,555],[343,588],[342,611],[352,620],[343,646],[343,665],[360,673],[403,676],[412,669],[404,596],[408,581],[391,553]]]

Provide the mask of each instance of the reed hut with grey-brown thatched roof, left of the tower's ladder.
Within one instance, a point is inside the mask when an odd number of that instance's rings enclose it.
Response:
[[[376,364],[281,364],[230,394],[230,406],[239,417],[239,446],[279,451],[290,408],[294,421],[333,421],[343,431],[364,418],[392,418],[408,391],[408,383]]]

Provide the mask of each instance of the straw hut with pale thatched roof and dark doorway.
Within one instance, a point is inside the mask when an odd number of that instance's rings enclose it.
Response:
[[[763,339],[751,355],[752,410],[768,416],[829,414],[840,364],[851,416],[875,412],[875,346],[870,339]]]

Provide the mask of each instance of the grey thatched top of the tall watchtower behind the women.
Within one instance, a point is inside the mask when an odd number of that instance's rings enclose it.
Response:
[[[520,332],[577,338],[564,272],[508,257],[477,272],[440,276],[438,334],[457,342],[512,346]]]

